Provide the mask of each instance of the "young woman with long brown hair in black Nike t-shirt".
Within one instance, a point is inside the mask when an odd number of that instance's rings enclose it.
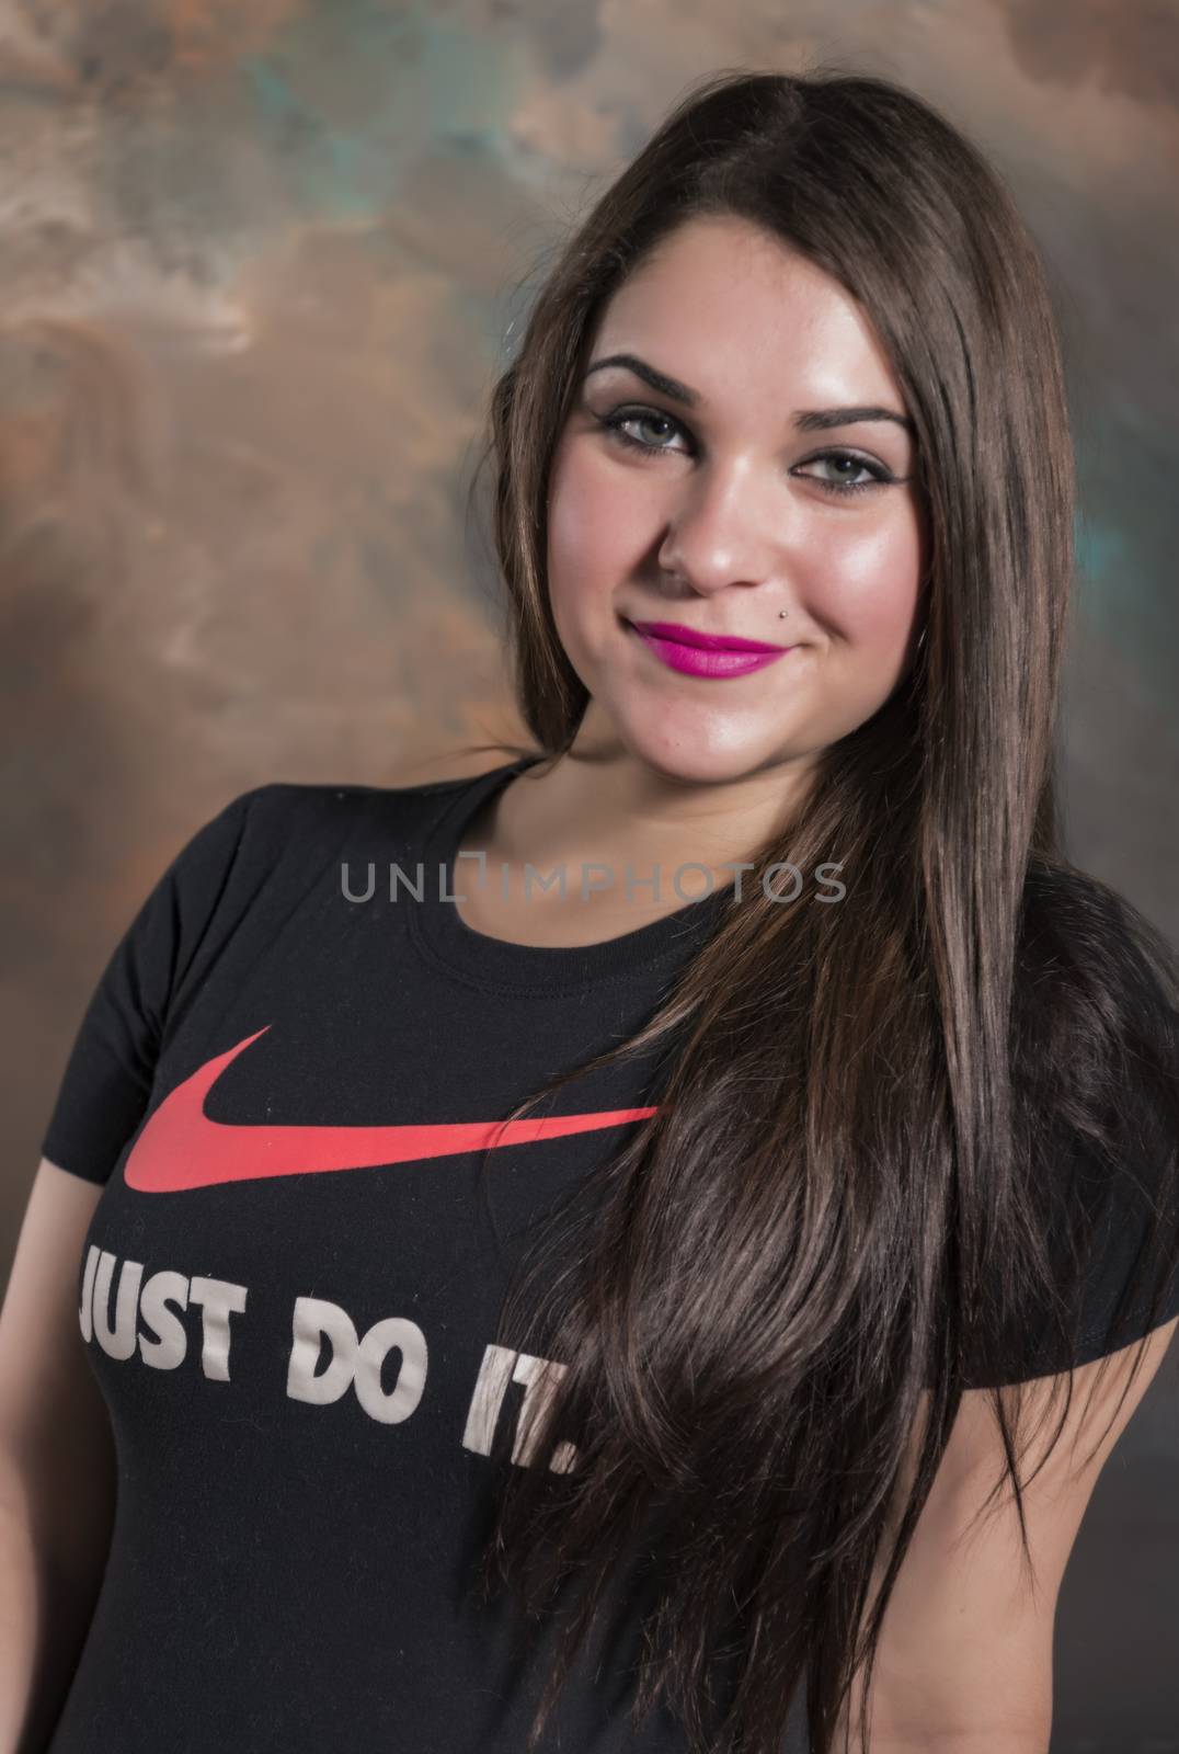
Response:
[[[65,1070],[0,1347],[53,1754],[1046,1754],[1179,1317],[1179,972],[1060,845],[1037,253],[911,93],[719,74],[491,453],[535,747],[235,798]]]

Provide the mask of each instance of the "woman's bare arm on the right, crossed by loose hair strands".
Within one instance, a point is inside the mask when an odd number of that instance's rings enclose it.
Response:
[[[1004,1466],[1004,1451],[990,1391],[963,1394],[884,1614],[872,1682],[872,1754],[918,1754],[921,1749],[937,1749],[937,1754],[1047,1754],[1053,1631],[1068,1554],[1097,1477],[1158,1372],[1175,1326],[1179,1319],[1146,1338],[1139,1373],[1116,1417],[1114,1407],[1126,1389],[1139,1345],[1074,1372],[1068,1417],[1035,1479],[1028,1477],[1049,1447],[1060,1407],[1040,1426],[1053,1379],[1025,1386],[1025,1431],[1035,1433],[1035,1440],[1019,1466],[1019,1479],[1028,1480],[1023,1505],[1035,1593],[1023,1565],[1011,1482],[1002,1498],[979,1515]],[[1090,1403],[1102,1363],[1105,1380]],[[1098,1444],[1107,1424],[1109,1431]],[[918,1444],[919,1431],[914,1433],[905,1489],[914,1477]],[[881,1575],[882,1565],[877,1566],[872,1600]],[[861,1691],[853,1687],[851,1750],[860,1745],[861,1710]],[[846,1728],[847,1714],[840,1721],[835,1749],[842,1750]]]

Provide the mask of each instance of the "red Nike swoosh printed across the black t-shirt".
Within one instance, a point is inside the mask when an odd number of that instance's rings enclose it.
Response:
[[[267,1175],[323,1175],[370,1170],[388,1163],[421,1163],[497,1145],[532,1145],[540,1138],[591,1133],[623,1121],[646,1121],[656,1109],[612,1109],[600,1114],[533,1116],[523,1121],[456,1121],[437,1126],[239,1126],[212,1121],[205,1096],[230,1061],[270,1024],[247,1035],[228,1054],[207,1059],[177,1084],[144,1123],[123,1165],[123,1180],[140,1193],[181,1193],[218,1182],[254,1182]]]

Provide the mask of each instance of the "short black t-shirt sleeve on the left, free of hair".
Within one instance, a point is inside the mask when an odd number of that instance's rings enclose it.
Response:
[[[242,793],[188,840],[116,944],[77,1028],[42,1156],[105,1182],[139,1126],[168,1005],[225,891],[256,793]]]

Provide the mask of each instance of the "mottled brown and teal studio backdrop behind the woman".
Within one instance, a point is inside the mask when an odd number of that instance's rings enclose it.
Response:
[[[1175,4],[0,0],[5,1272],[188,835],[518,730],[463,505],[546,251],[693,79],[832,60],[940,103],[1049,258],[1072,852],[1179,935]],[[1053,1754],[1179,1754],[1174,1352],[1065,1580]]]

